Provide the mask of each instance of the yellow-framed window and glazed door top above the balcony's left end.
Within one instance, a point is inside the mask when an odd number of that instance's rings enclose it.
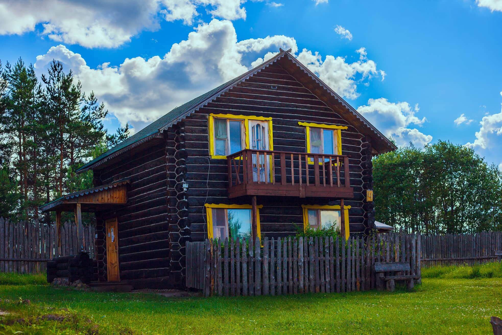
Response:
[[[273,150],[272,118],[231,114],[209,115],[211,158],[243,149]]]

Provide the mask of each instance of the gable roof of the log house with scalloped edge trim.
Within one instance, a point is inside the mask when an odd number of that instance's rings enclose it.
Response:
[[[335,91],[333,91],[331,88],[329,88],[328,85],[326,85],[321,79],[319,79],[314,73],[312,73],[306,66],[304,66],[302,63],[300,63],[293,55],[290,54],[291,49],[289,50],[282,50],[280,49],[280,52],[269,59],[268,61],[258,65],[257,67],[241,74],[238,77],[233,78],[232,80],[227,81],[224,84],[219,85],[216,88],[213,88],[209,92],[206,92],[176,108],[171,110],[169,113],[161,117],[160,119],[154,121],[147,127],[143,128],[141,131],[138,133],[134,134],[130,138],[120,142],[113,148],[109,149],[102,155],[96,157],[92,161],[88,162],[87,164],[83,165],[81,168],[79,168],[76,172],[80,173],[83,171],[86,171],[88,169],[92,169],[94,167],[97,167],[106,161],[112,159],[113,157],[116,157],[120,155],[121,153],[130,150],[148,140],[151,140],[153,138],[161,137],[162,132],[166,130],[167,128],[173,126],[174,124],[182,121],[192,113],[194,113],[196,110],[198,110],[200,107],[204,106],[208,102],[211,102],[224,92],[228,91],[231,89],[233,86],[236,84],[240,83],[241,81],[246,80],[247,78],[253,76],[257,72],[260,72],[270,64],[277,62],[278,60],[286,58],[290,61],[293,62],[300,70],[303,70],[304,73],[306,73],[311,79],[313,79],[319,87],[322,87],[324,91],[327,91],[331,97],[334,97],[338,102],[340,102],[346,109],[350,112],[350,114],[355,117],[354,121],[358,122],[366,128],[368,132],[373,135],[373,137],[378,138],[382,145],[381,151],[390,151],[390,150],[395,150],[396,146],[386,137],[384,136],[378,129],[376,129],[373,125],[371,125],[364,117],[362,117],[357,110],[355,110],[351,105],[349,105],[343,98],[341,98]],[[307,87],[309,88],[309,87]],[[315,94],[315,93],[314,93]],[[355,125],[357,128],[357,125]]]

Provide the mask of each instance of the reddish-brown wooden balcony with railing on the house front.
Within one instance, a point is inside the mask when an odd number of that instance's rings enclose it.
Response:
[[[354,196],[345,155],[245,149],[227,156],[227,165],[229,198]]]

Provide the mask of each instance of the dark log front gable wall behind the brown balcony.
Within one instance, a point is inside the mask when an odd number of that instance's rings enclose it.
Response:
[[[272,89],[276,86],[277,89]],[[319,100],[277,63],[248,78],[231,90],[196,111],[184,121],[185,146],[187,151],[186,178],[188,190],[188,218],[193,241],[207,237],[204,203],[250,204],[249,197],[227,198],[226,159],[211,159],[208,143],[208,115],[210,113],[254,115],[273,118],[274,150],[306,152],[305,127],[298,122],[313,122],[346,125],[342,130],[342,154],[349,154],[350,185],[355,198],[346,199],[350,205],[351,232],[362,232],[367,225],[363,209],[365,190],[362,185],[362,147],[364,137],[345,122],[324,102]],[[363,194],[364,193],[364,194]],[[258,197],[261,231],[269,237],[283,237],[295,233],[295,225],[303,224],[302,204],[325,205],[334,199]],[[339,204],[339,201],[334,201]]]

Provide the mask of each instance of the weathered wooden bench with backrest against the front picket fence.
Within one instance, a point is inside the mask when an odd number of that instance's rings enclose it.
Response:
[[[410,263],[408,262],[389,262],[375,263],[373,266],[376,277],[376,288],[383,290],[383,283],[386,282],[386,287],[389,292],[394,292],[396,288],[396,280],[408,281],[408,289],[411,290],[414,286],[414,280],[420,279],[419,275],[405,275],[404,271],[410,271]],[[394,272],[395,275],[385,275],[385,272]]]

